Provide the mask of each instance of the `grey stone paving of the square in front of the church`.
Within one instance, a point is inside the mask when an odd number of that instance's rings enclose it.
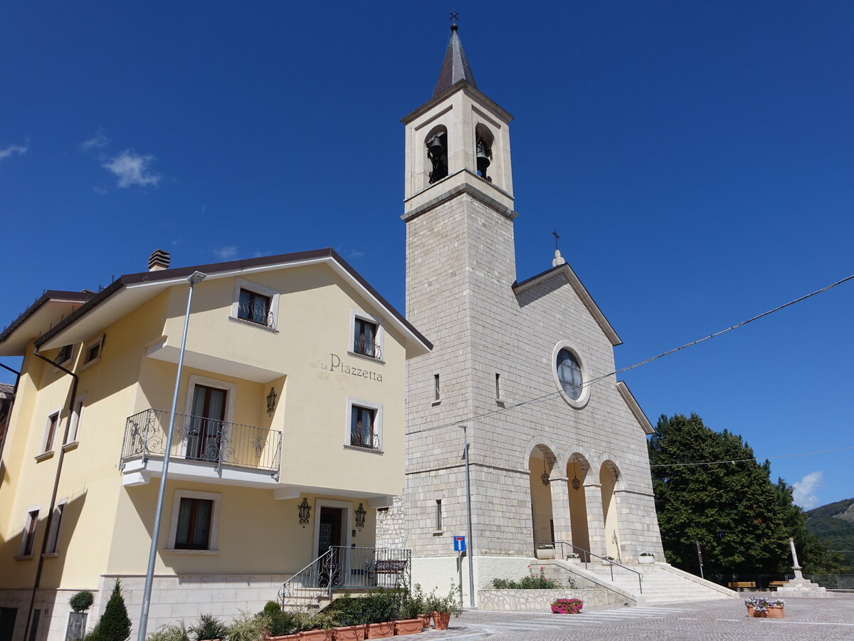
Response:
[[[431,630],[417,638],[418,641],[854,640],[854,594],[835,594],[829,599],[787,598],[785,619],[748,618],[744,599],[751,596],[771,595],[742,592],[738,599],[590,609],[580,615],[472,610],[459,619],[452,618],[449,630]]]

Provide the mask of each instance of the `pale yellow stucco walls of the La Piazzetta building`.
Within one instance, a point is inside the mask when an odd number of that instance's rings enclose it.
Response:
[[[400,494],[404,482],[403,337],[387,324],[384,363],[348,356],[351,309],[376,316],[376,310],[330,268],[290,268],[243,277],[281,292],[278,332],[230,321],[235,280],[207,279],[196,285],[187,350],[217,356],[221,363],[239,362],[278,372],[256,382],[224,371],[186,367],[179,390],[178,413],[185,409],[190,374],[236,385],[233,420],[283,433],[280,482],[285,485],[347,489],[383,495]],[[180,344],[188,287],[176,285],[144,303],[113,325],[102,328],[102,360],[81,367],[81,345],[75,349],[79,395],[85,409],[79,444],[64,456],[58,497],[67,499],[60,532],[60,555],[44,561],[43,586],[91,587],[102,573],[145,572],[154,522],[159,479],[125,487],[120,451],[128,416],[145,409],[168,410],[176,365],[146,356],[162,336]],[[100,333],[100,332],[98,332]],[[45,356],[56,355],[49,350]],[[374,373],[372,378],[330,371],[335,354],[342,365]],[[382,377],[382,380],[377,380]],[[272,417],[266,413],[270,387],[278,393]],[[44,520],[59,459],[67,409],[57,430],[54,456],[36,462],[44,424],[54,409],[67,408],[71,377],[32,356],[25,356],[9,437],[0,463],[0,587],[32,585],[36,558],[15,561],[26,508],[42,504],[35,543],[36,557],[45,534]],[[348,398],[383,406],[383,454],[351,450],[348,443]],[[297,522],[299,499],[274,500],[271,489],[170,481],[161,529],[165,547],[173,491],[221,494],[219,554],[165,553],[158,572],[289,573],[311,561],[313,525]],[[307,493],[313,504],[316,495]],[[368,510],[366,528],[356,545],[374,541],[376,510],[368,500],[322,495],[349,501]],[[313,510],[314,511],[314,510]],[[312,515],[312,519],[315,518]],[[353,528],[349,524],[348,529]]]

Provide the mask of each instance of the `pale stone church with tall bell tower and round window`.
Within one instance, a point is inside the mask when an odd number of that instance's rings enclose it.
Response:
[[[536,556],[664,562],[652,425],[613,374],[617,332],[559,250],[516,273],[511,121],[453,24],[433,96],[402,119],[406,315],[434,348],[407,362],[407,486],[377,517],[377,544],[412,549],[424,585],[458,575],[467,532],[476,590]]]

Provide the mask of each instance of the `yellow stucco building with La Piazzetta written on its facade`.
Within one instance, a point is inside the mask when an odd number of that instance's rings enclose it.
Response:
[[[115,577],[136,625],[194,272],[149,631],[260,609],[330,546],[355,549],[344,583],[375,580],[356,550],[403,491],[405,363],[430,342],[330,249],[190,268],[155,252],[0,334],[23,356],[0,462],[7,638],[28,619],[28,641],[65,638],[83,589],[91,626]]]

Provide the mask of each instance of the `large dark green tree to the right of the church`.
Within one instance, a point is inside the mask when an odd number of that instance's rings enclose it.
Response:
[[[791,563],[791,491],[771,482],[769,462],[755,462],[740,436],[696,414],[662,415],[649,454],[669,562],[697,572],[699,542],[707,573],[780,573]],[[717,461],[731,463],[696,464]]]

